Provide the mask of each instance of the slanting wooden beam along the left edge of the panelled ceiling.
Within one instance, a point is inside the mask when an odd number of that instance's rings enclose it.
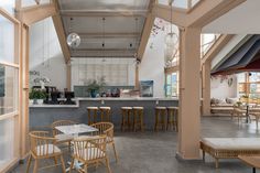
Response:
[[[57,1],[55,1],[55,9],[56,9],[56,11],[59,10]],[[65,58],[65,62],[68,63],[71,61],[71,52],[69,52],[69,48],[68,48],[68,45],[67,45],[67,40],[66,40],[66,34],[65,34],[62,18],[58,13],[56,13],[52,18],[53,18],[53,24],[54,24],[54,28],[56,30],[57,37],[58,37],[58,41],[59,41],[59,45],[61,45],[62,51],[63,51],[63,56]]]

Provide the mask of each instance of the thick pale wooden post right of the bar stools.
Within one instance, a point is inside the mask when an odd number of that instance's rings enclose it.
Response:
[[[180,31],[180,113],[178,149],[182,159],[199,158],[201,111],[201,29]]]

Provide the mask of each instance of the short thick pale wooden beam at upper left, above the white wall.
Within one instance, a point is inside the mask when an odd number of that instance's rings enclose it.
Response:
[[[56,13],[57,12],[53,3],[21,8],[20,10],[18,9],[20,21],[26,25],[31,25],[45,18],[53,17]]]

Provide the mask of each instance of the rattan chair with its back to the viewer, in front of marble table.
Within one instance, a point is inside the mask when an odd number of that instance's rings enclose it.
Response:
[[[74,152],[72,154],[72,164],[69,173],[74,167],[74,161],[77,160],[83,163],[84,167],[79,172],[87,173],[89,165],[102,163],[107,166],[108,173],[111,173],[109,160],[106,152],[107,136],[79,137],[73,140]]]

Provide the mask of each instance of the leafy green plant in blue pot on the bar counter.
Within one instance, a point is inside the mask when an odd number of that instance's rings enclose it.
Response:
[[[87,91],[89,93],[90,97],[96,98],[97,94],[99,94],[100,89],[106,85],[105,78],[101,77],[99,80],[91,79],[88,82]]]

